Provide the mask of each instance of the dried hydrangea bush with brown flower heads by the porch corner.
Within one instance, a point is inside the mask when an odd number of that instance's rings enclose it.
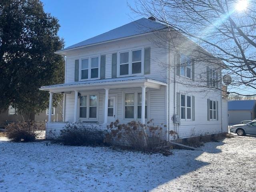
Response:
[[[119,120],[116,120],[108,126],[108,129],[110,132],[106,134],[105,142],[142,152],[165,151],[168,134],[176,134],[174,131],[168,133],[163,124],[154,125],[153,120],[150,120],[147,125],[139,121],[120,124]]]

